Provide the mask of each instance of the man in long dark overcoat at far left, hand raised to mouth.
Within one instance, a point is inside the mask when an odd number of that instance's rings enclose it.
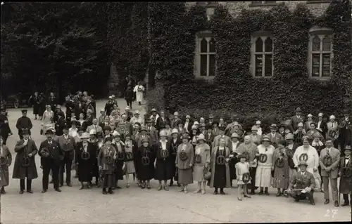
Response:
[[[20,179],[20,195],[25,191],[25,179],[27,178],[27,192],[32,194],[32,180],[38,178],[37,166],[35,165],[35,155],[37,146],[34,140],[30,139],[28,130],[23,130],[23,139],[15,145],[15,164],[13,165],[12,178]],[[30,166],[22,166],[23,158],[29,157]]]

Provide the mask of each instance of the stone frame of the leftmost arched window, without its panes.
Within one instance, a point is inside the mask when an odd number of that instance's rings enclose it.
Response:
[[[206,38],[208,41],[207,45],[207,53],[201,53],[201,41],[203,38]],[[210,44],[209,41],[210,39],[214,39],[213,34],[210,30],[204,30],[196,33],[196,46],[195,46],[195,51],[194,51],[194,76],[197,79],[214,79],[216,76],[216,71],[217,71],[217,63],[216,63],[216,51],[215,52],[209,52]],[[215,41],[216,44],[216,41]],[[216,49],[215,49],[216,50]],[[207,55],[207,75],[206,76],[201,76],[201,55]],[[215,55],[215,75],[214,76],[209,76],[210,73],[210,56],[209,55]]]

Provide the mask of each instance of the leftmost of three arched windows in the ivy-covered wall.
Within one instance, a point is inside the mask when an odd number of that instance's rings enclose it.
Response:
[[[215,39],[210,32],[203,32],[196,37],[196,76],[215,77]]]

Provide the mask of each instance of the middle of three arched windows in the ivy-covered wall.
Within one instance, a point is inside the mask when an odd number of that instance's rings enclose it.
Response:
[[[265,34],[265,35],[263,35]],[[274,74],[274,44],[268,32],[251,38],[251,67],[254,77],[272,77]]]

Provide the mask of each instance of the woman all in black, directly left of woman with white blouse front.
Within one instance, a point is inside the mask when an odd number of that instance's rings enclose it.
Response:
[[[142,189],[144,187],[151,189],[151,179],[154,178],[154,153],[153,147],[149,145],[149,139],[143,138],[142,145],[136,153],[137,160],[137,178],[142,181]]]

